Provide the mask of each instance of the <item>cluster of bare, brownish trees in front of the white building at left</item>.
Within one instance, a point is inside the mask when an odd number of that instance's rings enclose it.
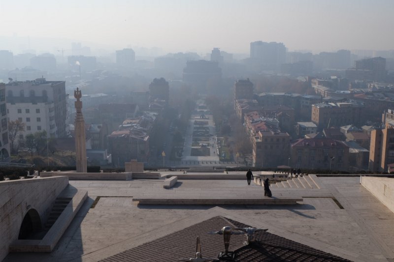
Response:
[[[25,147],[32,156],[33,153],[43,155],[47,150],[48,143],[50,143],[46,131],[38,131],[26,135],[24,139],[20,139],[19,135],[23,131],[25,131],[25,123],[19,120],[8,121],[8,139],[11,154],[16,154],[20,147]]]

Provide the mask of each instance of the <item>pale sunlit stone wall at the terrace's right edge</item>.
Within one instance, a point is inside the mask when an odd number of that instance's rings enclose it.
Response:
[[[394,178],[361,176],[361,185],[394,212]]]

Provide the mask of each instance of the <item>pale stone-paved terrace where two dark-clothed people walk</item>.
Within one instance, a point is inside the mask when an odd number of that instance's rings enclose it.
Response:
[[[317,179],[320,189],[272,187],[274,197],[303,197],[302,204],[220,207],[137,205],[132,199],[264,198],[263,188],[247,185],[246,179],[178,180],[171,189],[163,188],[163,180],[70,181],[87,190],[89,199],[55,250],[9,254],[4,261],[98,261],[217,215],[268,228],[270,233],[352,261],[393,261],[394,214],[360,185],[359,177]]]

